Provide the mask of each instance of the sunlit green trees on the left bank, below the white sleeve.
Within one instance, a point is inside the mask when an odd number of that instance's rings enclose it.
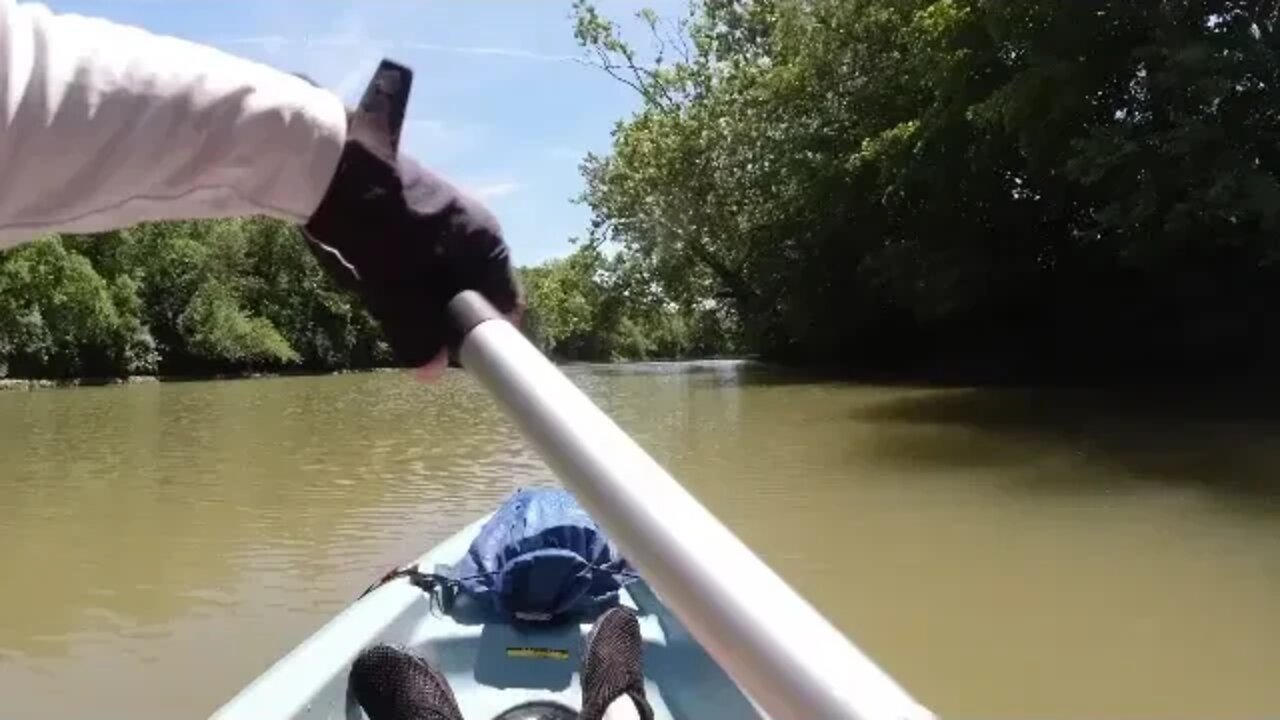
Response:
[[[390,360],[293,227],[261,218],[45,237],[0,256],[0,377],[334,370]]]

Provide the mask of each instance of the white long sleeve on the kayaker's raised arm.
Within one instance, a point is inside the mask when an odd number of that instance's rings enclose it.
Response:
[[[0,0],[0,247],[141,220],[303,222],[346,132],[338,96],[289,73]]]

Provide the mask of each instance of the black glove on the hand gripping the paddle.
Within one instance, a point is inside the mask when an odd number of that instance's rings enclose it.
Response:
[[[420,366],[460,340],[445,310],[458,292],[480,291],[506,314],[522,301],[493,214],[397,155],[412,79],[389,60],[378,67],[303,234],[320,264],[364,300],[397,361]]]

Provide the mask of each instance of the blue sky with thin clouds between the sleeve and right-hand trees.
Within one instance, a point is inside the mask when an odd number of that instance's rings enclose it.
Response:
[[[577,164],[605,151],[634,91],[573,61],[571,0],[46,0],[260,60],[353,101],[383,56],[413,68],[402,150],[484,200],[518,264],[572,250]],[[685,0],[599,0],[623,22]],[[628,29],[634,23],[626,23]],[[639,36],[636,36],[639,37]]]

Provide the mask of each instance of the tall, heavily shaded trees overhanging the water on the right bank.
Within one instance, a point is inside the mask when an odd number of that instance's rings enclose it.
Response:
[[[1240,369],[1280,341],[1274,1],[590,4],[643,100],[591,241],[746,347],[904,372]],[[634,38],[632,38],[634,40]]]

